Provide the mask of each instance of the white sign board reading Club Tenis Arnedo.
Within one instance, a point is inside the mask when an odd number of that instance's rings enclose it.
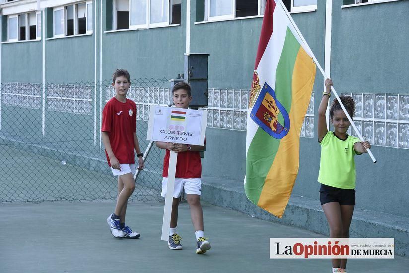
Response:
[[[150,106],[147,140],[203,146],[207,111]]]

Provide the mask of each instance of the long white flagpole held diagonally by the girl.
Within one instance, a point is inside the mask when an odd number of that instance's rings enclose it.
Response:
[[[275,3],[279,3],[281,5],[281,8],[284,10],[285,14],[287,15],[288,19],[291,22],[291,25],[294,27],[295,31],[297,32],[297,35],[299,36],[299,38],[301,39],[301,41],[304,43],[305,49],[308,51],[308,53],[310,54],[310,56],[313,58],[314,63],[317,65],[318,69],[321,71],[321,74],[324,76],[324,78],[328,78],[327,74],[324,72],[324,70],[322,69],[320,63],[318,63],[317,58],[315,58],[314,53],[312,52],[310,46],[308,45],[307,41],[305,41],[304,36],[301,34],[301,31],[298,29],[297,25],[295,24],[294,20],[292,19],[291,15],[288,13],[287,8],[284,6],[284,4],[282,3],[281,0],[274,0]],[[361,135],[361,133],[358,131],[358,129],[356,128],[355,123],[353,122],[351,116],[349,116],[348,111],[346,111],[345,106],[343,105],[343,103],[341,102],[340,97],[338,96],[337,92],[335,91],[334,87],[331,86],[331,90],[333,91],[333,94],[335,95],[335,97],[337,98],[338,102],[341,105],[342,110],[345,112],[346,117],[348,118],[349,122],[351,123],[353,129],[355,130],[355,132],[358,134],[359,139],[361,139],[361,141],[365,141]],[[376,163],[376,159],[373,156],[372,152],[367,149],[369,156],[371,157],[373,163]]]

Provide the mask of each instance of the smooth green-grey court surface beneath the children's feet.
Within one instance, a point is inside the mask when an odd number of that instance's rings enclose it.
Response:
[[[203,204],[211,250],[195,253],[189,206],[179,207],[183,250],[160,241],[163,205],[132,202],[127,225],[139,239],[116,239],[106,223],[115,203],[0,204],[0,273],[330,273],[329,259],[269,259],[270,237],[322,237]],[[349,273],[405,273],[409,259],[354,259]]]

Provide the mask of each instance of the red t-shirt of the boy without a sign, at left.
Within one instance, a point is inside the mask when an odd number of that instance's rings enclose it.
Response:
[[[134,132],[136,132],[136,104],[127,99],[110,99],[102,112],[101,132],[109,132],[112,151],[120,164],[134,164]],[[108,165],[111,166],[105,150]]]

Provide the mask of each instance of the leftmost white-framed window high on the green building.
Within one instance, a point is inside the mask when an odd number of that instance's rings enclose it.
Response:
[[[9,42],[41,39],[41,13],[9,15],[7,37]]]

